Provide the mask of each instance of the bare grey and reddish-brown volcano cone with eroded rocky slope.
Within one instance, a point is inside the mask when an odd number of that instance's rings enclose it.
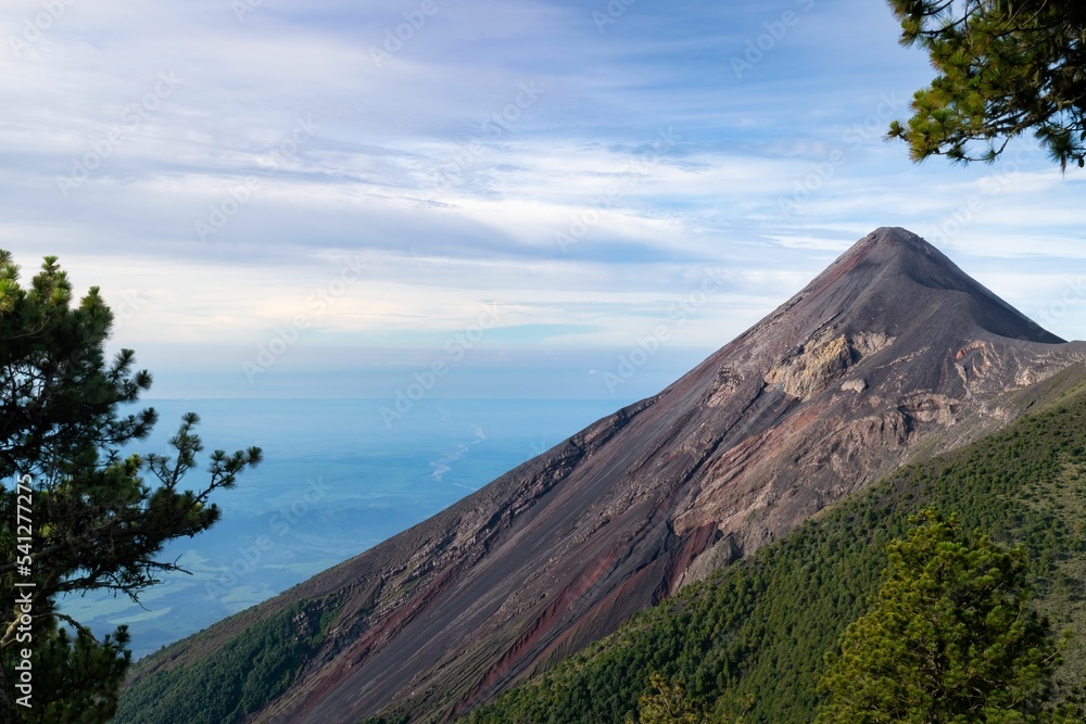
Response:
[[[921,444],[1006,424],[1008,393],[1084,359],[919,237],[879,229],[659,395],[255,609],[345,600],[258,719],[356,722],[400,704],[445,721]]]

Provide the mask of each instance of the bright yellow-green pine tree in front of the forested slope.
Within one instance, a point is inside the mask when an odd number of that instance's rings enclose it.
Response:
[[[925,510],[870,611],[826,657],[816,724],[1071,722],[1050,704],[1059,652],[1027,601],[1026,558]]]

